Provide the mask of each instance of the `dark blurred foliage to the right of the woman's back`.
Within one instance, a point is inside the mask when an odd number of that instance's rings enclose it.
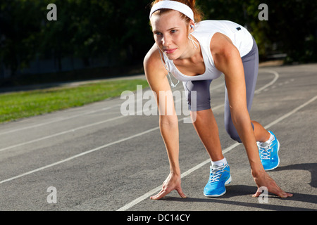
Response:
[[[232,20],[244,25],[256,39],[260,59],[286,53],[285,63],[317,61],[316,0],[197,0],[205,19]],[[259,20],[268,6],[268,20]]]

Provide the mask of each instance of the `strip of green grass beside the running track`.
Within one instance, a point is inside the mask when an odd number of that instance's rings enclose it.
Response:
[[[137,85],[149,86],[146,80],[132,79],[0,94],[0,123],[102,101],[135,91]]]

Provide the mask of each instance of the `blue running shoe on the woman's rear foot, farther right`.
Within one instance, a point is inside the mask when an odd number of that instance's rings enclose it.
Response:
[[[266,171],[275,169],[280,164],[278,157],[278,150],[280,149],[280,142],[276,139],[272,131],[268,131],[273,135],[274,139],[270,143],[257,142],[259,148],[260,159]]]

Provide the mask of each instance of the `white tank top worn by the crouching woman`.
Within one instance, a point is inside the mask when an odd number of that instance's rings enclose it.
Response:
[[[194,80],[205,80],[205,79],[216,79],[220,77],[222,72],[220,72],[213,62],[213,56],[210,51],[210,41],[215,33],[225,34],[229,37],[232,43],[237,47],[240,52],[240,56],[243,57],[251,51],[253,46],[253,39],[251,34],[237,23],[233,23],[228,20],[204,20],[196,23],[195,30],[192,35],[199,41],[201,46],[201,53],[204,58],[205,72],[202,75],[187,76],[182,74],[176,68],[173,60],[169,60],[165,54],[164,60],[166,62],[166,67],[168,71],[179,81],[187,82]]]

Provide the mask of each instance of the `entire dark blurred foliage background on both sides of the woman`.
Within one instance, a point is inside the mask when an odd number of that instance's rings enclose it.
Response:
[[[48,4],[57,21],[49,21]],[[13,75],[35,58],[107,57],[116,65],[142,63],[154,43],[149,0],[0,0],[0,63]],[[268,20],[258,18],[268,5]],[[232,20],[254,35],[260,58],[287,53],[287,62],[317,61],[316,0],[197,0],[204,19]]]

